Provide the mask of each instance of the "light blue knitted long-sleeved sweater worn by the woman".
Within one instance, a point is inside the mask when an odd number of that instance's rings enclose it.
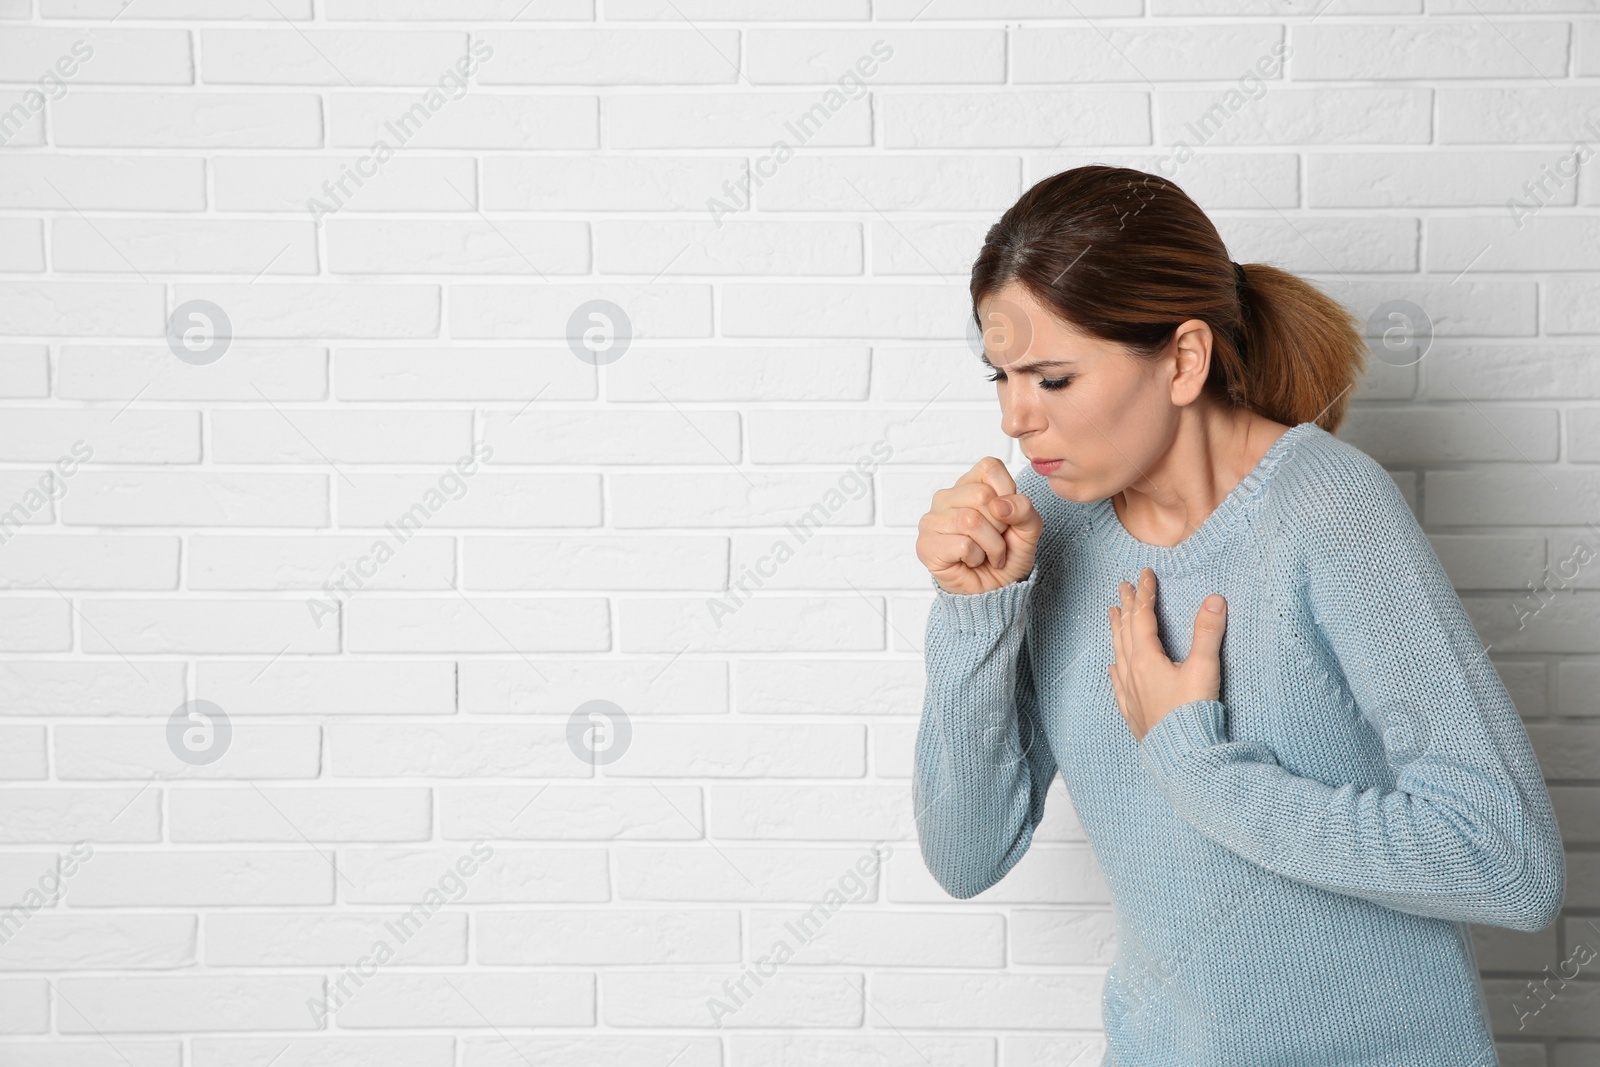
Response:
[[[1488,1067],[1466,923],[1541,929],[1565,864],[1499,675],[1389,474],[1315,422],[1182,544],[1024,470],[1027,579],[936,589],[917,835],[957,897],[1022,857],[1059,768],[1110,888],[1117,1067]],[[1106,673],[1117,582],[1157,574],[1181,661],[1227,598],[1219,701],[1134,741]]]

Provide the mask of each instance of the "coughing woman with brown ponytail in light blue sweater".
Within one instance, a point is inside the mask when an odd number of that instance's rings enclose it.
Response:
[[[1494,1064],[1466,923],[1549,925],[1560,835],[1405,499],[1331,434],[1355,320],[1110,166],[1034,186],[971,296],[1034,469],[920,523],[928,869],[1005,877],[1059,769],[1117,917],[1106,1064]]]

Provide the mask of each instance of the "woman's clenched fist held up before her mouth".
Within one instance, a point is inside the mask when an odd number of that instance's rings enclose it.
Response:
[[[917,558],[947,593],[986,593],[1027,577],[1045,531],[1005,464],[984,456],[917,523]]]

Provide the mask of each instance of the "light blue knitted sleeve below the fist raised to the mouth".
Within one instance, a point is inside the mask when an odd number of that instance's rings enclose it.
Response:
[[[955,897],[1016,865],[1056,776],[1026,635],[1037,576],[966,595],[934,584],[912,803],[923,862]]]

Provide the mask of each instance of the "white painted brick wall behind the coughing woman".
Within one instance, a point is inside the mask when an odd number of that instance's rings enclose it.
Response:
[[[912,542],[1019,459],[986,227],[1182,141],[1237,259],[1434,322],[1342,435],[1571,846],[1478,931],[1504,1062],[1600,1065],[1592,973],[1512,1009],[1600,944],[1597,75],[1586,0],[0,0],[0,1062],[1099,1062],[1059,782],[998,886],[922,865]]]

